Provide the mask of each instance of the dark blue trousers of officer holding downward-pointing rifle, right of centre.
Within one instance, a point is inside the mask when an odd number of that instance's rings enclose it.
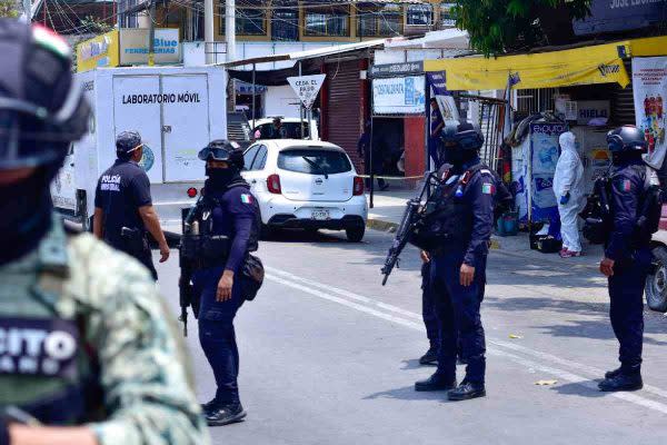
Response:
[[[457,346],[460,338],[462,358],[468,362],[466,378],[484,384],[486,343],[479,307],[486,285],[486,258],[475,266],[470,286],[460,285],[462,253],[436,255],[431,259],[431,285],[436,313],[440,322],[438,374],[456,375]]]

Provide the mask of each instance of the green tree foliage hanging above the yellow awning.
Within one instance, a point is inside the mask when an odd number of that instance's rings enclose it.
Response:
[[[591,0],[457,0],[457,27],[468,31],[472,49],[486,56],[566,43],[573,19],[590,13]]]

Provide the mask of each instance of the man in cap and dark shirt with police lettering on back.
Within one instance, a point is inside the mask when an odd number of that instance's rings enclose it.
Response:
[[[94,235],[145,265],[158,279],[147,230],[158,241],[160,263],[169,258],[169,246],[152,207],[150,180],[139,166],[143,156],[141,136],[123,131],[116,138],[116,162],[100,176],[94,192]]]

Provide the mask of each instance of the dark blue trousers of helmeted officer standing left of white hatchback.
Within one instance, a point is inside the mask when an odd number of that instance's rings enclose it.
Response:
[[[238,404],[239,349],[236,343],[233,318],[243,304],[238,280],[235,281],[231,299],[217,301],[216,291],[223,267],[197,271],[192,279],[195,291],[201,295],[199,309],[199,343],[216,378],[216,402]]]

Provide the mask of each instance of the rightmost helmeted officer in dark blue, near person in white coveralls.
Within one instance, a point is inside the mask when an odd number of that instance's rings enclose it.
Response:
[[[608,187],[611,229],[600,271],[609,281],[609,316],[620,344],[620,367],[608,372],[599,388],[636,390],[643,387],[643,296],[651,263],[651,234],[638,229],[638,219],[648,188],[659,182],[655,170],[641,158],[647,151],[641,130],[634,126],[617,128],[607,135],[607,144],[613,157]]]

